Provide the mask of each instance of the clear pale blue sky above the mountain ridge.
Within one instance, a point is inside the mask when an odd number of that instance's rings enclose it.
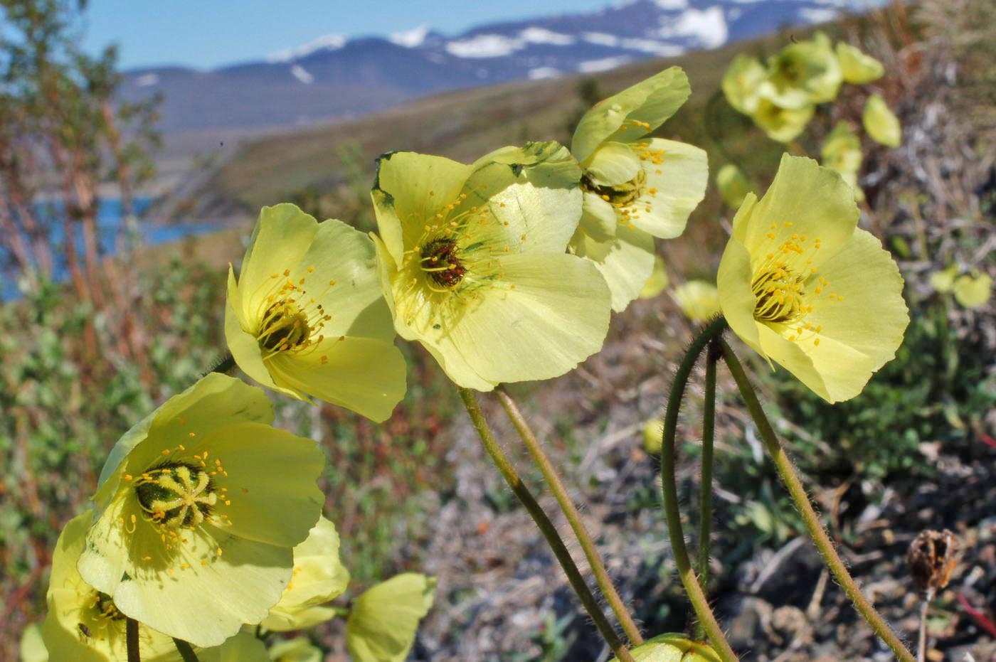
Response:
[[[322,35],[387,35],[599,9],[610,0],[90,0],[87,47],[120,46],[124,69],[261,59]]]

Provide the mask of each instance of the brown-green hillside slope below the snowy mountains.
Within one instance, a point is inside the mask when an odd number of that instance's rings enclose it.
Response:
[[[329,188],[341,182],[341,154],[347,147],[357,148],[364,163],[372,164],[378,154],[391,149],[470,161],[526,139],[568,141],[572,119],[584,110],[579,99],[583,83],[590,89],[594,83],[596,94],[604,98],[670,66],[682,67],[688,74],[692,98],[658,134],[705,146],[702,111],[733,56],[744,51],[770,53],[788,38],[787,33],[770,35],[609,72],[448,93],[353,121],[251,141],[221,169],[212,187],[223,199],[252,210],[305,188]]]

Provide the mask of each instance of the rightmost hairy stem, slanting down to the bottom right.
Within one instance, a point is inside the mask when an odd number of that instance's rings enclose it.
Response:
[[[747,409],[750,410],[751,417],[754,419],[754,424],[757,425],[758,432],[761,434],[761,439],[768,449],[768,454],[771,455],[771,459],[774,461],[775,467],[782,477],[782,482],[785,483],[785,487],[792,496],[792,501],[795,502],[796,509],[803,516],[803,520],[806,522],[806,529],[820,551],[820,555],[823,556],[827,566],[830,567],[830,571],[834,573],[834,577],[837,578],[838,583],[844,587],[844,592],[851,598],[851,601],[855,604],[855,608],[868,621],[871,629],[892,649],[892,653],[896,659],[900,662],[914,662],[912,654],[899,640],[899,637],[892,632],[885,619],[871,606],[871,602],[862,593],[858,582],[848,572],[848,567],[844,564],[840,555],[838,555],[837,550],[834,549],[834,543],[830,540],[830,536],[827,535],[827,531],[820,523],[820,518],[817,516],[816,511],[813,510],[813,505],[810,503],[806,488],[803,487],[799,476],[796,475],[795,468],[792,466],[792,460],[789,459],[781,444],[778,443],[775,430],[771,427],[764,409],[761,408],[761,403],[757,399],[757,394],[754,392],[754,387],[751,386],[743,366],[729,345],[722,340],[720,342],[722,342],[723,357],[726,359],[726,365],[729,366],[730,372],[733,374],[733,379],[737,382],[740,395],[746,402]]]

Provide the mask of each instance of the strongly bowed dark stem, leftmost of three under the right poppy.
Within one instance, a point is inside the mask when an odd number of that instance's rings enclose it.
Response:
[[[681,408],[681,398],[684,395],[688,375],[698,359],[698,355],[712,338],[718,337],[726,329],[726,320],[718,318],[702,330],[688,347],[687,353],[681,359],[671,392],[667,396],[667,411],[664,413],[664,435],[660,446],[660,491],[664,501],[664,516],[667,519],[667,535],[670,538],[671,552],[674,553],[674,564],[678,568],[678,576],[684,584],[685,593],[695,608],[702,628],[709,636],[713,649],[723,662],[737,662],[737,656],[730,648],[723,635],[723,630],[716,621],[716,616],[709,608],[709,600],[695,577],[688,558],[688,550],[684,544],[684,532],[681,530],[681,513],[678,510],[678,491],[674,480],[674,436],[678,426],[678,410]]]

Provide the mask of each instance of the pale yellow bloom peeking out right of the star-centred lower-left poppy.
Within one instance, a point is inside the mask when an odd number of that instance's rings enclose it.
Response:
[[[336,526],[320,518],[305,542],[294,548],[294,576],[260,625],[286,632],[330,620],[337,610],[321,605],[342,595],[349,583],[350,571],[339,559]]]

